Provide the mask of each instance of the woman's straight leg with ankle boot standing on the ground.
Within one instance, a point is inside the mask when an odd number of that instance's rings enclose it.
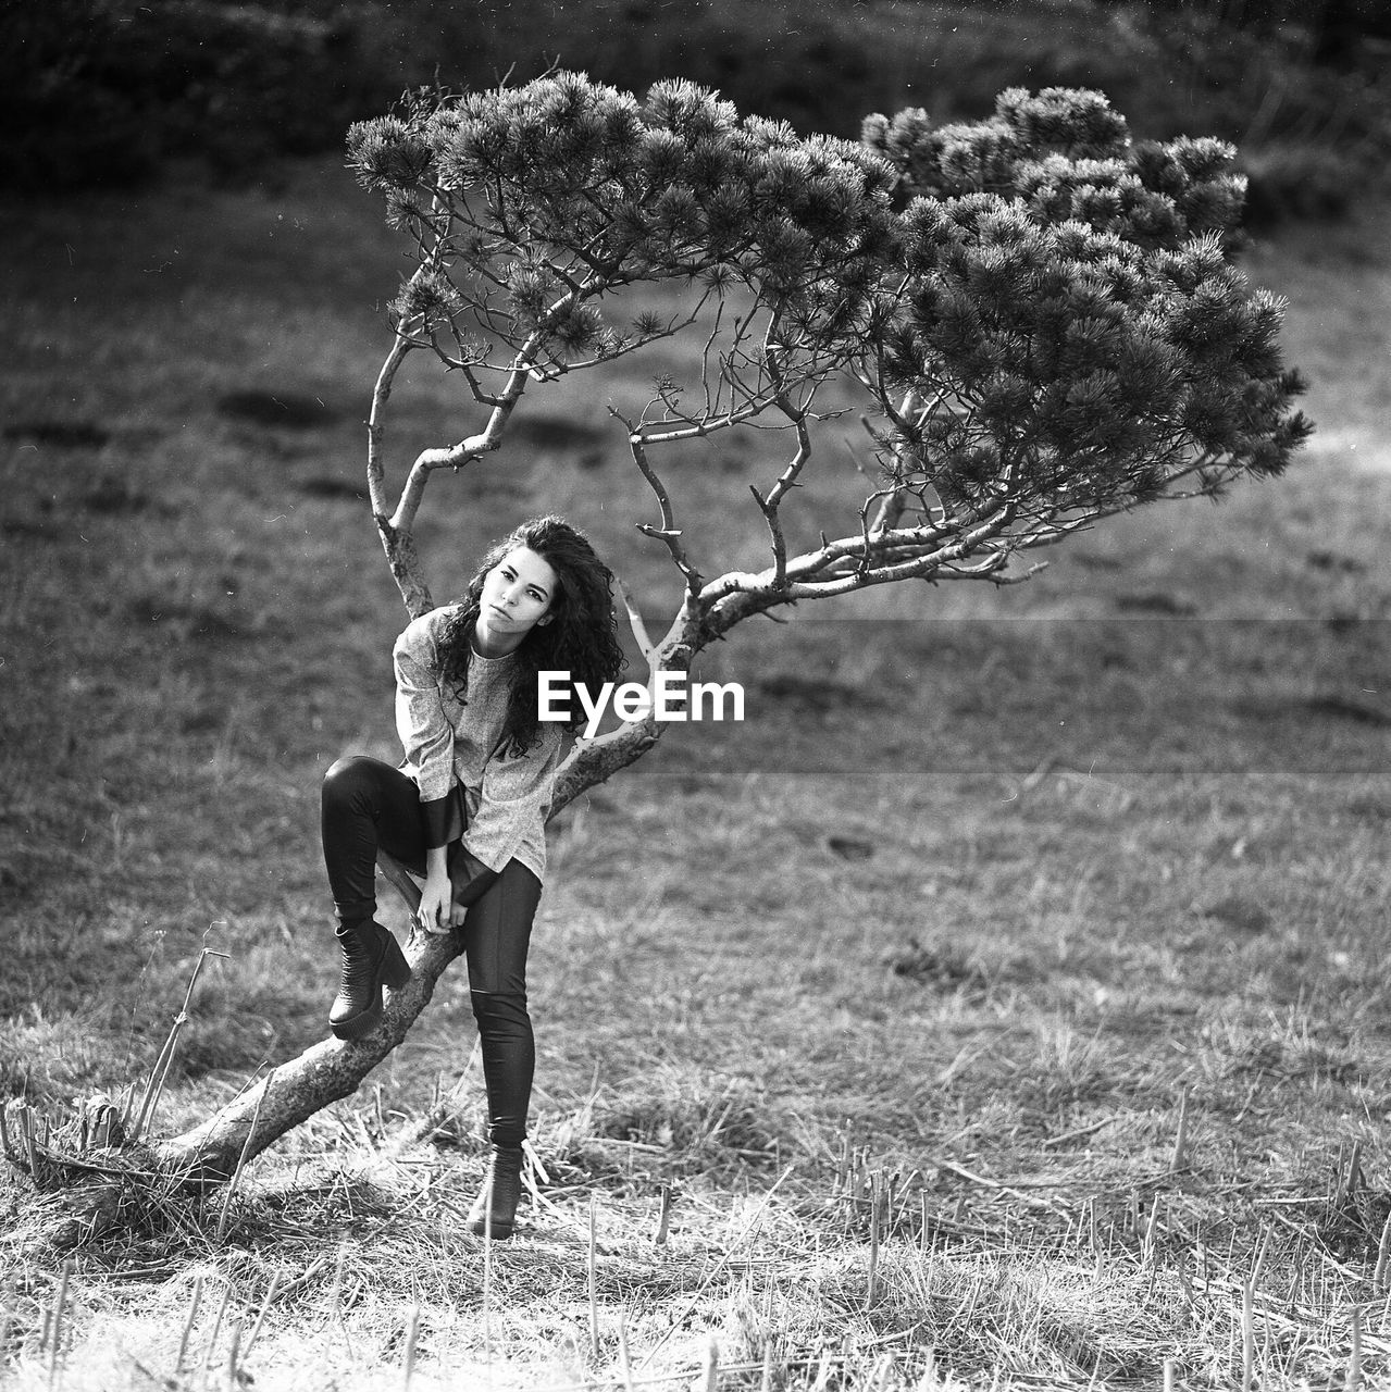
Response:
[[[510,860],[464,920],[492,1141],[487,1180],[469,1212],[469,1226],[494,1237],[511,1235],[521,1199],[522,1140],[536,1069],[526,1011],[526,951],[539,902],[540,881]]]

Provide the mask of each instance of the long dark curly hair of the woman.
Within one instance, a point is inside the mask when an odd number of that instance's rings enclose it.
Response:
[[[574,732],[585,718],[574,688],[582,683],[597,692],[627,665],[610,594],[613,572],[595,554],[589,539],[564,518],[532,518],[489,547],[458,600],[458,612],[440,635],[440,677],[454,688],[458,699],[468,699],[468,668],[483,582],[487,572],[518,546],[529,547],[546,561],[558,583],[551,599],[551,621],[532,628],[515,649],[517,671],[498,745],[510,756],[524,754],[540,738],[537,672],[569,674],[572,715],[565,728]]]

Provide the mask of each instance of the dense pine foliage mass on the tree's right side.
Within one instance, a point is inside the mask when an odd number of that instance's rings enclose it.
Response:
[[[905,290],[866,362],[893,483],[947,512],[1079,512],[1278,473],[1309,433],[1281,303],[1231,263],[1242,182],[1220,141],[1132,145],[1101,93],[1004,92],[994,117],[870,117],[913,195]]]

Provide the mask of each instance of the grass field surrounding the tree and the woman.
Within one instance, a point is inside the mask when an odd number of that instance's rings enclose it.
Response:
[[[324,1033],[317,782],[394,749],[404,611],[359,480],[404,263],[333,167],[0,221],[0,1082],[54,1116],[142,1084],[213,948],[173,1132]],[[483,1147],[459,973],[230,1203],[167,1196],[67,1275],[25,1246],[54,1200],[4,1175],[0,1378],[1391,1377],[1373,224],[1250,259],[1313,376],[1287,479],[1117,521],[1021,587],[746,625],[699,675],[742,681],[748,720],[670,732],[558,820],[532,969],[546,1178],[511,1243],[462,1231]],[[670,603],[604,416],[641,373],[524,402],[517,443],[432,484],[437,596],[554,508]],[[394,408],[398,464],[468,426],[423,370]],[[844,459],[833,433],[808,535]],[[757,437],[673,469],[712,571],[760,554],[730,500],[776,465]]]

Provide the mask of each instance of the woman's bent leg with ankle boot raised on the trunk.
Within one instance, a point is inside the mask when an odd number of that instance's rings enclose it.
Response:
[[[329,1027],[338,1038],[354,1040],[382,1016],[382,987],[400,988],[411,977],[395,938],[373,915],[379,846],[407,863],[425,864],[425,821],[415,782],[380,759],[340,759],[323,780],[320,832],[343,954]]]

